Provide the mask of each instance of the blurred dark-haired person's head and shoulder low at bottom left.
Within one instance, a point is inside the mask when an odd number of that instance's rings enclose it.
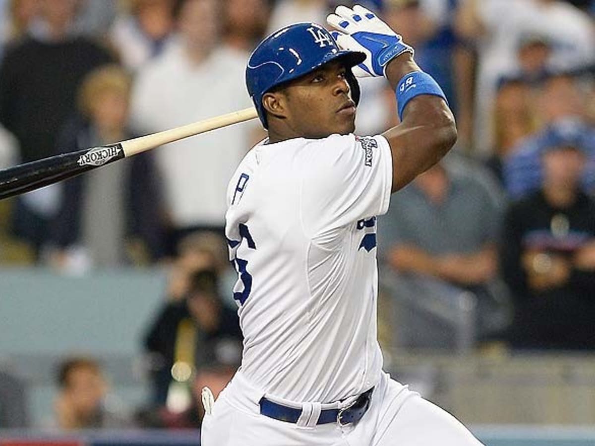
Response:
[[[108,385],[101,366],[90,357],[73,357],[58,368],[55,400],[57,427],[73,429],[124,428],[129,420],[107,405]]]

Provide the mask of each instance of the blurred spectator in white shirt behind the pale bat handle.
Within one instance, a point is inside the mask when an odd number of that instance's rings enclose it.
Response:
[[[180,40],[139,71],[132,116],[140,133],[188,124],[250,106],[245,58],[221,44],[221,3],[185,0]],[[155,92],[159,92],[156,95]],[[248,149],[250,124],[203,134],[156,152],[170,219],[168,253],[197,230],[223,234],[227,181]]]

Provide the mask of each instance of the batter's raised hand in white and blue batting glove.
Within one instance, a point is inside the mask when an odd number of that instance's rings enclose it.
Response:
[[[339,6],[327,22],[337,30],[331,32],[343,49],[361,51],[367,55],[364,62],[353,67],[357,77],[382,77],[384,68],[404,52],[414,54],[414,49],[403,42],[380,18],[366,8],[355,5],[353,10]]]

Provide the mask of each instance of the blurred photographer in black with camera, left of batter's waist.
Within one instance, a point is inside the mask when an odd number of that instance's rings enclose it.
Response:
[[[165,304],[145,337],[151,354],[152,404],[183,412],[192,403],[191,378],[221,349],[241,343],[237,312],[218,296],[217,274],[196,272],[186,299]]]

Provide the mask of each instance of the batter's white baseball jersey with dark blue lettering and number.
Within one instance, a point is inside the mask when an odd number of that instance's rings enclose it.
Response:
[[[382,136],[259,143],[227,191],[242,374],[267,394],[331,402],[380,379],[376,215],[392,186]]]

